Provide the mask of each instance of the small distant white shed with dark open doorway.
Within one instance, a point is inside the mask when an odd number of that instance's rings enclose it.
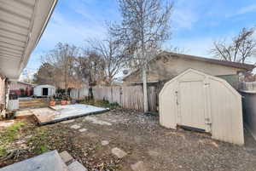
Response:
[[[36,97],[49,97],[55,95],[55,87],[52,85],[38,85],[34,88]]]

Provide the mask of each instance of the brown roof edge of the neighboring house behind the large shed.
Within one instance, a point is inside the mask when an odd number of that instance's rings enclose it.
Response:
[[[189,55],[189,54],[177,54],[177,53],[166,52],[166,51],[163,51],[160,54],[156,55],[149,62],[152,62],[153,60],[158,60],[158,58],[160,58],[162,56],[177,57],[177,58],[183,58],[183,59],[187,59],[187,60],[198,60],[198,61],[202,61],[202,62],[217,64],[220,66],[230,66],[230,67],[234,67],[234,68],[241,68],[242,70],[246,70],[246,71],[252,71],[256,67],[256,66],[250,65],[250,64],[242,64],[242,63],[238,63],[238,62],[230,62],[230,61],[225,61],[225,60],[215,60],[215,59],[211,59],[211,58],[204,58],[204,57],[194,56],[194,55]],[[133,75],[134,73],[136,73],[139,70],[140,69],[132,71],[130,74],[128,74],[126,77],[123,78],[123,81],[125,81],[125,79],[127,77],[130,77],[131,75]]]

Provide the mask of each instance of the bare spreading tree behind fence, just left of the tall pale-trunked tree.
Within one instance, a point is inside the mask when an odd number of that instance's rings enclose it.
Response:
[[[102,56],[105,64],[105,83],[111,85],[114,77],[125,64],[125,54],[121,44],[113,38],[105,40],[90,39],[90,48]]]

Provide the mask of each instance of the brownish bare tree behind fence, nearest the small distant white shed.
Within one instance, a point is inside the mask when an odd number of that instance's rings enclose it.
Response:
[[[58,43],[53,50],[42,57],[43,62],[49,63],[49,65],[55,68],[56,80],[61,78],[61,83],[64,84],[63,87],[66,90],[66,94],[69,83],[75,82],[73,79],[73,62],[78,54],[79,48],[76,46],[67,43]]]

